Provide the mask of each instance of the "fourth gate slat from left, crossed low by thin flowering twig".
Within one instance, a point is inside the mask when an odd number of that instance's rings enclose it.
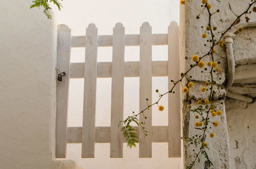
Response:
[[[152,28],[145,22],[140,27],[140,111],[152,103]],[[147,136],[143,135],[140,128],[139,154],[140,158],[152,157],[152,108],[145,111],[145,116],[140,115],[140,121],[145,122]]]

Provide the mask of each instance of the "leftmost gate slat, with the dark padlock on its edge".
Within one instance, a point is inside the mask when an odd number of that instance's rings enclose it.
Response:
[[[68,26],[58,26],[57,67],[66,77],[57,81],[56,89],[56,158],[66,158],[68,87],[70,77],[71,30]]]

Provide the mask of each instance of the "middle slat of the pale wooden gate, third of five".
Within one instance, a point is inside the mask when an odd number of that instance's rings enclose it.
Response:
[[[112,66],[112,94],[111,94],[111,140],[110,157],[123,157],[122,125],[124,118],[124,27],[118,23],[113,29],[113,66]]]

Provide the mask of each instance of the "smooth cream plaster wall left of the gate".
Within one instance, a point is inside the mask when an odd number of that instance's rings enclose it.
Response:
[[[55,169],[56,25],[0,1],[0,168]]]

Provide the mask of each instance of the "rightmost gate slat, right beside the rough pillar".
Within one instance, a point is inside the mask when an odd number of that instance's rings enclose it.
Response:
[[[173,87],[170,80],[179,80],[179,26],[171,22],[168,27],[168,89]],[[169,158],[181,157],[180,143],[180,85],[175,93],[168,94],[168,155]]]

